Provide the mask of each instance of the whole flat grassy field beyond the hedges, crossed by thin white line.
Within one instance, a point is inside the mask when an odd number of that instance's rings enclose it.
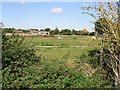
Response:
[[[31,43],[37,47],[37,55],[46,59],[79,58],[82,54],[87,54],[90,50],[99,45],[99,40],[93,40],[90,36],[61,36],[58,37],[25,37],[26,43]],[[52,46],[52,47],[39,47]],[[57,47],[54,47],[57,46]]]

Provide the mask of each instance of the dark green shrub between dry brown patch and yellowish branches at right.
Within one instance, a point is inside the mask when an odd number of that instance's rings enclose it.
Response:
[[[81,61],[78,60],[76,62],[79,65],[81,65],[82,63],[88,63],[90,66],[92,66],[92,68],[94,68],[94,70],[96,70],[96,73],[92,77],[93,78],[101,77],[101,80],[105,81],[105,82],[103,82],[101,87],[111,88],[114,86],[114,80],[112,77],[109,76],[111,69],[109,68],[108,69],[109,72],[108,71],[106,72],[106,70],[104,70],[101,67],[101,64],[103,64],[103,63],[101,63],[101,61],[100,61],[99,54],[100,54],[99,50],[97,50],[97,49],[91,50],[91,51],[89,51],[88,55],[83,53],[83,55],[80,56]],[[93,79],[93,78],[91,78],[91,79]],[[95,81],[93,81],[93,82],[95,82]]]

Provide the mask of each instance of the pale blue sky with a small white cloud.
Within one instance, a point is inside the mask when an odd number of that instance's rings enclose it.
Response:
[[[5,27],[22,29],[51,28],[93,31],[94,19],[82,14],[83,5],[94,2],[2,2],[2,22]],[[1,11],[1,10],[0,10]]]

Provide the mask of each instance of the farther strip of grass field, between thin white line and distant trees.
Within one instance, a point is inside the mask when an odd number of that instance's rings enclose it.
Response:
[[[57,37],[33,36],[26,37],[26,42],[34,43],[34,45],[37,46],[42,46],[43,42],[49,44],[50,46],[61,46],[61,44],[68,46],[96,46],[99,40],[92,40],[89,36],[62,36],[61,40],[58,40]]]

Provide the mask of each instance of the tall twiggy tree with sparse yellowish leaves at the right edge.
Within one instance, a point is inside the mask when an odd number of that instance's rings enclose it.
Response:
[[[120,1],[98,2],[95,6],[81,7],[95,19],[95,32],[102,35],[100,45],[100,67],[120,85]]]

